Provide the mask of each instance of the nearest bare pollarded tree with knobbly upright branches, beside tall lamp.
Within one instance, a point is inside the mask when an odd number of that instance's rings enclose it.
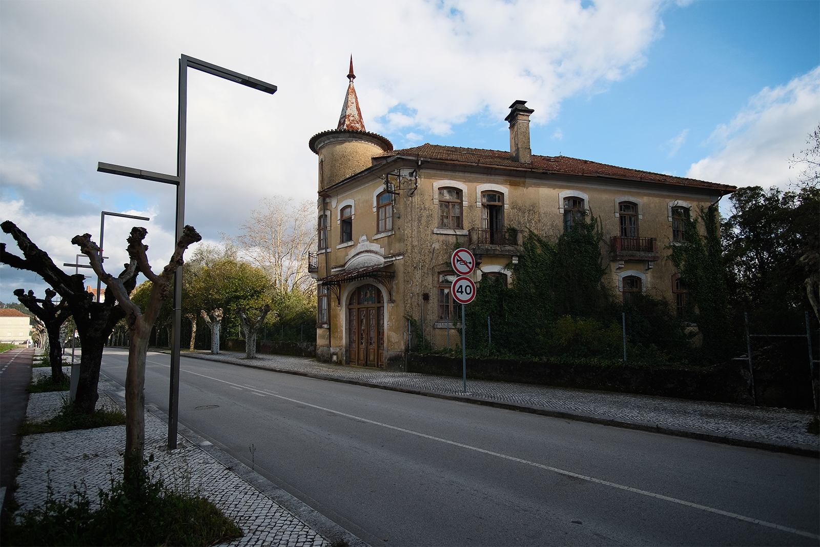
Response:
[[[143,243],[147,230],[134,227],[128,238],[130,263],[125,271],[114,277],[106,273],[100,260],[100,248],[93,243],[90,234],[76,235],[71,243],[89,257],[91,267],[99,276],[117,302],[127,310],[130,320],[130,344],[128,348],[128,369],[125,372],[125,483],[138,486],[144,477],[145,448],[145,358],[148,353],[148,339],[154,321],[159,316],[162,301],[168,296],[174,282],[174,273],[183,264],[185,249],[202,237],[192,226],[185,226],[182,237],[176,243],[174,254],[162,273],[157,276],[148,263],[148,245]],[[126,284],[133,282],[139,272],[151,281],[151,295],[143,311],[130,299],[130,289]],[[133,286],[133,285],[132,285]],[[106,291],[107,292],[107,291]]]

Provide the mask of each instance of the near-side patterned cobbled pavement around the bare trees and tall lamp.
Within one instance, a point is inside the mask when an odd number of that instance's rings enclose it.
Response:
[[[34,368],[33,371],[35,380],[50,373],[47,367]],[[99,391],[98,408],[121,408],[115,400],[116,392],[121,391],[119,385],[101,376]],[[67,396],[67,391],[31,394],[28,419],[32,422],[48,420],[57,414]],[[243,529],[244,537],[224,545],[308,547],[332,545],[339,540],[348,545],[365,545],[238,461],[231,461],[230,456],[185,427],[180,426],[180,432],[185,430],[189,435],[180,434],[179,449],[166,452],[167,426],[161,418],[162,413],[157,408],[148,408],[145,454],[146,457],[153,454],[148,472],[162,477],[166,485],[175,489],[207,497],[225,515],[233,518]],[[17,476],[19,489],[15,493],[21,511],[42,506],[49,486],[57,498],[70,496],[79,489],[87,492],[89,499],[97,500],[99,489],[110,488],[112,474],[121,474],[124,451],[125,426],[25,436],[21,444],[25,463]],[[212,455],[215,452],[221,453],[218,459]],[[271,495],[266,495],[250,481],[257,486],[261,484],[266,492],[273,492],[273,497],[286,499],[290,508],[307,515],[307,520],[318,522],[318,526],[309,526],[305,519],[277,504]],[[317,527],[325,531],[324,536],[314,529]]]

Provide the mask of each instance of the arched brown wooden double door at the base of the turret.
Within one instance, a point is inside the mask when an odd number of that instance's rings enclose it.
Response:
[[[348,299],[350,364],[385,366],[385,300],[375,285],[362,285]]]

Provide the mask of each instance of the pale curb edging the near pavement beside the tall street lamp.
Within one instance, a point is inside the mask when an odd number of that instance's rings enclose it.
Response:
[[[103,374],[103,372],[100,372],[100,376],[105,376],[113,384],[117,383]],[[122,394],[110,390],[105,393],[116,401],[116,403],[118,403],[122,408],[125,408],[125,397]],[[153,416],[159,418],[161,422],[165,424],[168,423],[168,415],[157,408],[156,405],[148,403],[145,405],[145,408],[149,413],[152,413]],[[230,469],[231,472],[233,472],[236,476],[239,476],[239,478],[247,482],[249,485],[252,485],[253,488],[262,492],[262,494],[272,499],[276,502],[276,504],[279,504],[280,507],[288,510],[294,515],[294,517],[297,517],[313,531],[316,531],[320,536],[328,540],[331,545],[370,547],[369,544],[359,539],[358,536],[354,536],[351,532],[331,521],[328,517],[318,513],[315,509],[307,504],[304,504],[301,500],[295,498],[293,495],[290,495],[285,490],[282,490],[279,486],[274,485],[264,476],[253,471],[253,469],[226,453],[225,450],[221,449],[216,444],[213,444],[210,440],[205,439],[196,431],[193,431],[189,427],[179,423],[177,425],[177,433],[189,440],[191,444],[194,444],[194,446],[197,446],[199,449],[203,450],[203,452],[210,455],[217,462]]]

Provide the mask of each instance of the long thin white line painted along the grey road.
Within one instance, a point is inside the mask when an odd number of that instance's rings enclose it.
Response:
[[[157,362],[157,363],[154,363],[154,364],[160,365],[162,363]],[[163,366],[171,368],[171,365],[163,365]],[[198,372],[188,371],[188,370],[185,370],[184,368],[180,368],[180,371],[188,372],[189,374],[193,374],[194,376],[202,376],[203,378],[207,378],[208,380],[218,381],[218,382],[221,382],[223,384],[230,385],[230,386],[239,386],[238,384],[234,384],[234,383],[229,382],[229,381],[221,380],[219,378],[214,378],[213,376],[206,376],[206,375],[200,374]],[[435,440],[437,442],[444,443],[444,444],[451,444],[453,446],[458,446],[459,448],[462,448],[462,449],[473,450],[473,451],[479,452],[481,454],[487,454],[487,455],[490,455],[490,456],[495,456],[496,458],[506,459],[506,460],[509,460],[511,462],[524,463],[525,465],[530,465],[532,467],[538,467],[540,469],[555,472],[555,473],[558,473],[560,475],[572,476],[572,477],[575,477],[577,479],[583,479],[585,481],[594,482],[595,484],[610,486],[612,488],[617,488],[618,490],[626,490],[627,492],[633,492],[635,494],[649,496],[650,498],[663,499],[665,501],[672,502],[673,504],[685,505],[686,507],[700,509],[700,510],[706,511],[708,513],[715,513],[717,515],[722,515],[724,517],[735,518],[735,519],[743,521],[743,522],[750,522],[752,524],[758,524],[760,526],[767,526],[769,528],[774,528],[774,529],[780,530],[780,531],[787,531],[787,532],[790,532],[792,534],[796,534],[797,536],[804,536],[804,537],[809,537],[813,540],[820,540],[820,535],[818,535],[818,534],[813,534],[812,532],[808,532],[808,531],[797,530],[796,528],[791,528],[790,526],[782,526],[782,525],[776,524],[774,522],[762,521],[758,518],[745,517],[745,516],[739,515],[737,513],[730,513],[728,511],[722,511],[721,509],[708,507],[708,505],[694,504],[692,502],[686,501],[685,499],[677,499],[677,498],[672,498],[672,497],[662,495],[662,494],[655,494],[654,492],[649,492],[648,490],[640,490],[640,489],[637,489],[637,488],[632,488],[631,486],[619,485],[616,482],[603,481],[601,479],[596,479],[593,476],[581,475],[579,473],[574,473],[574,472],[571,472],[571,471],[566,471],[564,469],[559,469],[558,467],[550,467],[548,465],[544,465],[543,463],[535,463],[535,462],[531,462],[531,461],[526,460],[526,459],[516,458],[515,456],[508,456],[507,454],[500,454],[499,452],[493,452],[492,450],[480,449],[476,446],[471,446],[470,444],[458,443],[454,440],[447,440],[447,439],[442,439],[440,437],[434,437],[433,435],[426,435],[425,433],[421,433],[419,431],[412,431],[412,430],[409,430],[409,429],[404,429],[403,427],[391,426],[391,425],[386,424],[386,423],[376,422],[374,420],[368,420],[367,418],[355,416],[353,414],[343,413],[343,412],[340,412],[338,410],[333,410],[332,408],[320,407],[317,404],[305,403],[304,401],[300,401],[298,399],[290,399],[289,397],[285,397],[283,395],[276,394],[275,392],[271,392],[269,390],[257,390],[255,388],[245,388],[245,389],[255,391],[255,392],[259,392],[259,393],[262,393],[262,394],[269,394],[273,397],[277,397],[279,399],[284,399],[285,401],[290,401],[291,403],[297,403],[297,404],[302,404],[302,405],[307,406],[307,407],[317,408],[318,410],[324,410],[324,411],[329,412],[329,413],[338,414],[339,416],[348,417],[348,418],[351,418],[353,420],[358,420],[359,422],[369,423],[369,424],[374,425],[374,426],[386,427],[387,429],[392,429],[394,431],[401,431],[402,433],[407,433],[408,435],[416,435],[417,437],[421,437],[423,439]]]

